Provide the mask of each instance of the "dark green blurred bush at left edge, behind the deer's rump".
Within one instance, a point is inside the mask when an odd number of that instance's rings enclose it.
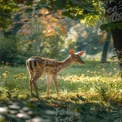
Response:
[[[0,62],[11,65],[25,64],[25,60],[32,53],[23,50],[19,44],[14,36],[2,37],[0,39]]]

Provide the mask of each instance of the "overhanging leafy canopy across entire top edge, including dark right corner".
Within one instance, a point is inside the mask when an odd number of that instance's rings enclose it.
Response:
[[[26,11],[31,12],[33,12],[33,7],[36,10],[47,8],[48,14],[52,13],[54,15],[60,10],[63,16],[84,21],[87,25],[100,26],[104,22],[101,26],[103,30],[109,27],[121,28],[121,22],[118,22],[118,20],[121,21],[121,4],[121,0],[112,0],[112,2],[110,0],[1,0],[0,28],[7,28],[13,22],[13,12],[14,14],[17,11],[21,13],[22,9],[26,7]],[[40,13],[38,14],[38,16],[41,15]],[[113,18],[114,20],[119,19],[111,23]]]

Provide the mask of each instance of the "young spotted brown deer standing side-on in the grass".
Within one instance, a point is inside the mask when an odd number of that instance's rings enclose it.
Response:
[[[59,96],[58,86],[57,86],[57,74],[63,69],[69,67],[73,63],[84,64],[80,56],[84,51],[74,53],[72,49],[69,50],[69,56],[64,61],[57,61],[54,59],[43,58],[39,56],[32,56],[26,60],[27,69],[30,75],[30,92],[32,95],[32,87],[38,96],[38,90],[36,86],[36,81],[41,77],[43,73],[46,74],[47,95],[50,94],[51,80],[54,81],[57,95]]]

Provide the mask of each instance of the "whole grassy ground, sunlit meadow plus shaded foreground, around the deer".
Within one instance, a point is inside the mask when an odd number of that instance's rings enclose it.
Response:
[[[58,75],[47,97],[43,75],[39,98],[31,97],[26,66],[0,66],[0,122],[122,122],[122,79],[117,62],[86,61]],[[26,109],[24,109],[26,108]]]

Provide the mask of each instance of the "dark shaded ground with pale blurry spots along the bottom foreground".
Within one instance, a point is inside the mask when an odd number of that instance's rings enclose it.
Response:
[[[112,103],[89,102],[80,95],[0,102],[0,122],[121,122],[122,108]]]

